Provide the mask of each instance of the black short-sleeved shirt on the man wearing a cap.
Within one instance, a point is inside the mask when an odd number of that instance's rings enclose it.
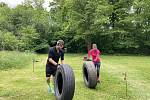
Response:
[[[47,65],[54,66],[49,62],[49,58],[52,58],[56,63],[58,63],[60,57],[61,60],[64,60],[64,52],[59,50],[59,53],[57,53],[56,47],[51,47],[48,54]]]

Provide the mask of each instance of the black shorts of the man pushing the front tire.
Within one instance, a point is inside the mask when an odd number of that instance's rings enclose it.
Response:
[[[46,64],[46,77],[55,76],[57,68]]]

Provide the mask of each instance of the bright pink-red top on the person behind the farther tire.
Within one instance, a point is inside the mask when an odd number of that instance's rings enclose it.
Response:
[[[88,52],[88,58],[90,58],[90,56],[92,56],[92,61],[94,63],[98,63],[100,62],[100,54],[101,52],[98,50],[98,49],[91,49],[89,52]]]

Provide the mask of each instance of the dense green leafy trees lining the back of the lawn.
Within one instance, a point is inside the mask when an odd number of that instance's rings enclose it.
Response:
[[[68,52],[150,54],[149,0],[25,0],[0,3],[0,49],[42,52],[58,39]]]

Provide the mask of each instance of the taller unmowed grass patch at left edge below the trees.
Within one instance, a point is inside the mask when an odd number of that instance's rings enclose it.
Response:
[[[0,52],[0,70],[8,70],[12,68],[23,68],[29,64],[35,54],[21,53],[17,51],[1,51]]]

